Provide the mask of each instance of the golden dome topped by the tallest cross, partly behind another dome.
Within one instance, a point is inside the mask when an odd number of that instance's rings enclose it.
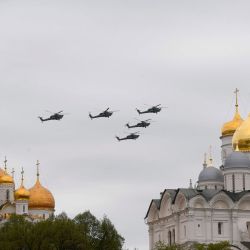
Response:
[[[239,113],[239,105],[238,105],[238,92],[239,90],[235,90],[235,95],[236,95],[236,104],[235,104],[235,114],[233,120],[226,122],[223,127],[221,128],[221,134],[222,136],[231,136],[234,134],[236,129],[242,124],[244,121]]]

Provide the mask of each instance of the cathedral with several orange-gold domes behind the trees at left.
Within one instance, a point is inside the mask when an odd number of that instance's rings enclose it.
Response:
[[[23,170],[21,173],[21,185],[16,189],[14,171],[12,176],[8,174],[6,159],[4,170],[0,168],[0,224],[7,221],[11,214],[24,215],[30,221],[48,219],[54,214],[55,200],[40,182],[39,162],[37,161],[36,183],[30,189],[24,187]]]

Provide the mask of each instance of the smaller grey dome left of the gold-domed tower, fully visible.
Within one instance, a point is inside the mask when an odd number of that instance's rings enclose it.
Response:
[[[199,174],[198,182],[211,181],[211,182],[224,182],[222,172],[215,167],[205,167]]]

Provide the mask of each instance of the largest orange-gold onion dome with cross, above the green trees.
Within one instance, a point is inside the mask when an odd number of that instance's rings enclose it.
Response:
[[[35,185],[29,189],[29,209],[54,210],[55,200],[52,193],[43,187],[39,180],[39,161],[37,161],[37,180]]]

